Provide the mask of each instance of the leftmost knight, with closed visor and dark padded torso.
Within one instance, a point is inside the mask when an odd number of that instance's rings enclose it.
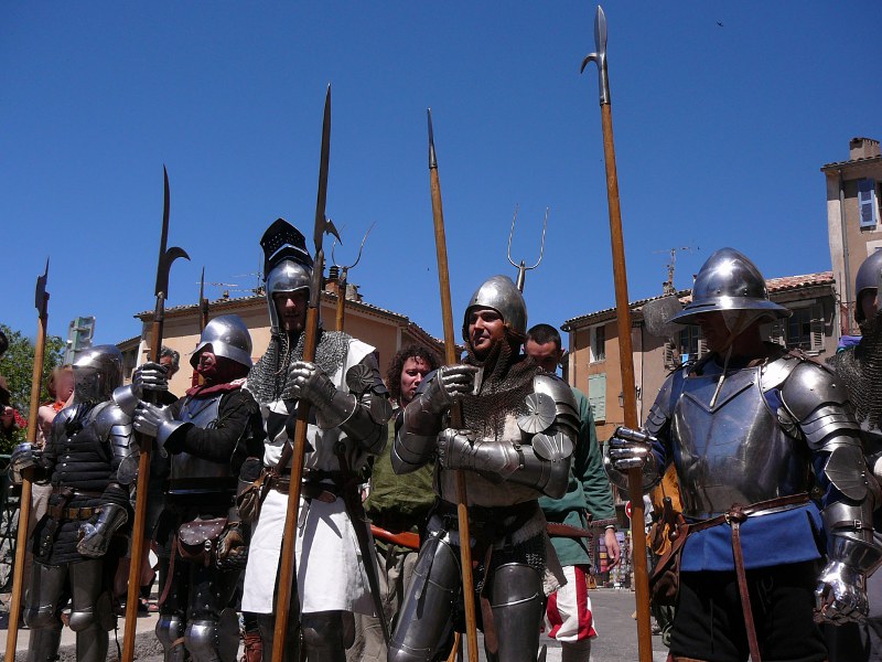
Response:
[[[33,467],[49,477],[49,512],[33,533],[34,567],[24,606],[31,628],[28,659],[57,659],[61,610],[72,597],[69,626],[80,662],[104,662],[116,623],[111,583],[126,552],[122,527],[129,521],[129,485],[118,469],[132,453],[131,418],[114,403],[122,383],[122,354],[97,345],[74,363],[74,399],[52,424],[42,451],[20,445],[10,467],[13,481]]]

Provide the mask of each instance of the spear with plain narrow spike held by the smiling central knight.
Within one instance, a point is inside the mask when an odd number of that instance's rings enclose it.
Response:
[[[432,109],[429,116],[429,184],[432,192],[432,220],[434,222],[434,247],[438,254],[438,286],[441,290],[441,317],[444,323],[444,363],[453,365],[456,360],[456,342],[453,339],[453,307],[450,302],[450,271],[448,269],[448,242],[444,236],[444,210],[441,205],[441,180],[438,178],[438,159],[432,132]],[[450,410],[451,425],[464,426],[462,403],[455,401]],[[456,519],[460,526],[460,559],[462,563],[462,594],[465,607],[465,640],[469,644],[469,662],[477,662],[477,621],[475,619],[475,587],[472,577],[472,540],[469,533],[469,500],[465,494],[465,476],[455,470]]]

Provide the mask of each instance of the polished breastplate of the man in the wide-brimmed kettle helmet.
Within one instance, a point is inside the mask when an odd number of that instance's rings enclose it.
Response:
[[[712,517],[734,503],[808,491],[808,449],[778,424],[779,401],[763,392],[763,370],[728,371],[712,407],[720,366],[709,362],[702,375],[681,380],[671,433],[679,440],[674,461],[686,516]]]

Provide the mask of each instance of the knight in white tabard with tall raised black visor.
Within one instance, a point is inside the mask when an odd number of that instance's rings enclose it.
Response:
[[[260,242],[271,338],[246,387],[260,405],[266,429],[262,463],[275,468],[251,537],[241,608],[260,623],[263,658],[272,655],[276,584],[290,488],[291,437],[301,401],[310,404],[308,452],[297,528],[297,595],[289,629],[300,615],[300,632],[287,638],[286,656],[297,660],[297,641],[310,662],[342,662],[354,638],[353,612],[374,613],[368,590],[373,555],[359,551],[369,535],[353,516],[352,480],[370,455],[386,446],[391,414],[376,350],[340,331],[320,330],[315,361],[304,362],[306,302],[313,260],[305,238],[279,220]],[[290,425],[289,425],[290,424]],[[290,437],[289,437],[290,433]],[[359,502],[361,500],[356,499]],[[364,531],[356,531],[362,526]]]

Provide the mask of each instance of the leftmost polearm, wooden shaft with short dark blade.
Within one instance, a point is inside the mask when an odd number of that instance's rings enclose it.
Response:
[[[37,413],[40,409],[40,391],[43,387],[43,354],[46,349],[46,307],[49,292],[49,258],[46,270],[36,278],[36,342],[34,343],[34,370],[31,373],[31,409],[28,412],[28,433],[25,438],[29,444],[36,441]],[[24,595],[24,557],[28,547],[28,524],[31,520],[31,477],[33,468],[29,467],[22,472],[21,501],[19,505],[19,533],[15,541],[15,566],[12,572],[12,599],[9,607],[9,628],[7,631],[6,659],[14,662],[15,644],[19,639],[19,618],[21,617],[21,599]]]

